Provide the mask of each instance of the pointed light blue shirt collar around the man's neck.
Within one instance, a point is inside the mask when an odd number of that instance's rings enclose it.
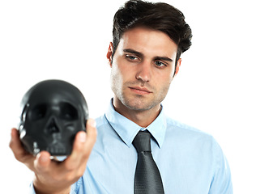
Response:
[[[151,135],[156,139],[158,146],[163,145],[164,143],[164,135],[166,131],[166,118],[164,115],[163,107],[159,114],[147,128],[143,129],[138,124],[135,124],[133,121],[127,119],[125,116],[122,116],[113,108],[112,100],[110,101],[109,108],[105,113],[109,124],[113,127],[113,129],[117,132],[119,137],[122,138],[122,141],[126,143],[127,146],[132,145],[132,141],[134,137],[139,132],[139,130],[148,130]]]

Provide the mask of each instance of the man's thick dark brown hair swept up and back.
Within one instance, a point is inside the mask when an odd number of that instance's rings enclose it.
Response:
[[[177,44],[177,60],[190,48],[192,33],[185,17],[177,8],[163,2],[130,0],[113,18],[113,54],[122,35],[133,27],[147,27],[167,34]]]

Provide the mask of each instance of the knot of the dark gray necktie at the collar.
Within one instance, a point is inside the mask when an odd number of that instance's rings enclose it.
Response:
[[[139,131],[132,142],[138,153],[151,152],[151,134],[148,131]]]

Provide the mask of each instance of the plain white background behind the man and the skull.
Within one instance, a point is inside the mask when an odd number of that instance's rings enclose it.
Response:
[[[32,181],[32,172],[8,147],[20,100],[32,85],[64,79],[83,92],[92,118],[105,112],[112,96],[105,54],[113,15],[124,2],[0,2],[0,184],[6,193],[28,193]],[[228,158],[234,193],[255,193],[255,3],[164,2],[186,15],[194,34],[164,100],[165,112],[211,133]]]

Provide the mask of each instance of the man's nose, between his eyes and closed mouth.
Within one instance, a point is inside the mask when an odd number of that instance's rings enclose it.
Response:
[[[136,78],[143,82],[151,80],[151,64],[149,61],[143,61],[138,65]]]

